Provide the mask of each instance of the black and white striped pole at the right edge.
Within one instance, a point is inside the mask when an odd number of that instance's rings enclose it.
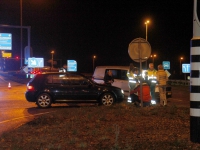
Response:
[[[190,140],[194,143],[200,143],[200,22],[197,15],[199,4],[200,0],[194,0],[193,38],[190,43]]]

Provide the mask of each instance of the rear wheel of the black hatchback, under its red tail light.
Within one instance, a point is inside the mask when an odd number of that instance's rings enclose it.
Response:
[[[38,107],[47,108],[50,107],[52,103],[51,96],[47,93],[42,93],[38,96],[36,104]]]

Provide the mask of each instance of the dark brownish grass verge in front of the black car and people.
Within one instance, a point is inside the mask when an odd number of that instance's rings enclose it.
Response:
[[[190,142],[189,108],[65,107],[0,137],[4,150],[200,149]]]

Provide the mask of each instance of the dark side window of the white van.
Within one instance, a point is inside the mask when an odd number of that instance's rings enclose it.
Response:
[[[108,70],[112,71],[113,78],[114,79],[120,79],[120,80],[128,80],[127,77],[127,70],[120,70],[120,69],[106,69],[105,74],[108,72]]]

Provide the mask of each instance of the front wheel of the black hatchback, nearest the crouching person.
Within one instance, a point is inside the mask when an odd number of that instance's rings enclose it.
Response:
[[[115,101],[115,97],[111,93],[104,93],[101,96],[101,104],[104,106],[111,106]]]

